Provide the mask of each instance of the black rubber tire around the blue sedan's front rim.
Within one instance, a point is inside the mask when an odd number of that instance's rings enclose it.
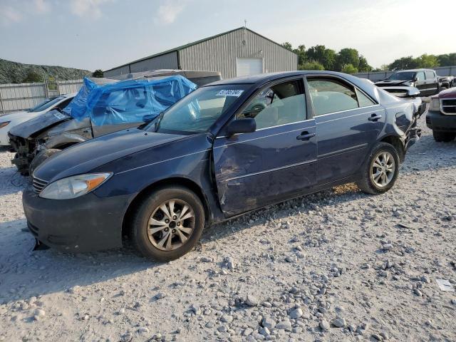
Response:
[[[149,222],[150,219],[152,219],[152,214],[161,210],[160,206],[162,204],[168,203],[167,201],[172,200],[182,201],[183,203],[188,204],[190,206],[190,209],[195,214],[194,219],[190,218],[190,220],[192,220],[192,224],[194,224],[194,227],[192,229],[191,234],[186,235],[187,241],[185,243],[182,242],[182,239],[178,236],[177,233],[172,234],[172,232],[178,230],[176,226],[176,222],[178,222],[178,219],[176,221],[172,221],[174,222],[173,226],[171,226],[170,223],[165,229],[162,229],[160,232],[156,232],[155,236],[157,236],[158,234],[157,240],[161,241],[165,234],[170,234],[172,243],[177,242],[176,245],[179,245],[180,242],[181,244],[180,247],[176,247],[176,249],[163,250],[152,243],[152,240],[155,241],[155,243],[157,241],[155,240],[154,236],[148,234],[148,229],[152,227],[149,224]],[[180,205],[182,206],[182,203]],[[167,209],[170,209],[170,207],[167,206]],[[181,214],[182,211],[183,208],[181,208]],[[160,214],[160,212],[158,213]],[[166,218],[165,215],[162,216],[163,219]],[[133,213],[132,222],[130,226],[130,238],[135,248],[138,249],[138,251],[144,257],[147,257],[148,259],[154,259],[156,261],[171,261],[182,257],[184,254],[190,252],[190,250],[193,247],[195,247],[204,229],[204,222],[204,207],[194,192],[187,189],[186,187],[180,186],[162,187],[153,192],[150,192],[150,195],[143,198],[142,201],[135,208],[135,212]],[[184,225],[189,224],[184,224],[184,221],[182,221],[182,225],[180,227],[183,227]],[[171,227],[174,229],[171,229]],[[168,231],[165,233],[166,229],[168,229]],[[179,234],[182,234],[182,232],[180,231]]]

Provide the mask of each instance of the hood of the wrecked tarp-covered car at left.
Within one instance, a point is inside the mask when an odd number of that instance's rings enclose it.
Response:
[[[9,133],[11,135],[16,135],[16,137],[27,139],[56,123],[61,123],[68,119],[71,119],[71,116],[63,114],[58,110],[51,110],[50,112],[40,114],[25,123],[16,125],[9,130]]]

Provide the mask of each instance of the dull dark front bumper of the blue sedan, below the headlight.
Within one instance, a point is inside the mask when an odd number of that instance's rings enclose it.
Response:
[[[122,247],[123,217],[130,195],[44,199],[31,187],[22,195],[28,229],[46,246],[63,252]]]

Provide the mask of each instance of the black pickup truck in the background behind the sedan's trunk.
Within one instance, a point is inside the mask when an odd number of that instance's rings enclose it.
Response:
[[[383,81],[375,83],[378,87],[408,86],[420,90],[423,96],[437,94],[440,90],[440,83],[437,74],[432,69],[403,70],[393,73]]]

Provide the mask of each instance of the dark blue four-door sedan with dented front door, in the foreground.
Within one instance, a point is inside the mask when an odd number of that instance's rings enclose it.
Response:
[[[140,128],[63,150],[24,192],[28,228],[50,247],[122,246],[167,261],[204,227],[357,182],[393,187],[418,140],[420,101],[343,73],[296,71],[204,86]]]

